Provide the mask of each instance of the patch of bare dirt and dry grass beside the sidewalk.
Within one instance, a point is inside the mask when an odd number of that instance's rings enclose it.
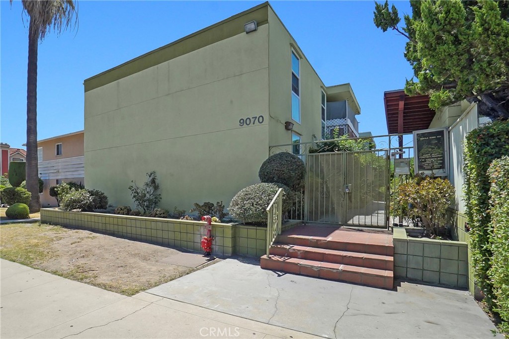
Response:
[[[176,249],[90,231],[35,223],[5,224],[1,232],[1,258],[124,295],[196,270],[159,262]]]

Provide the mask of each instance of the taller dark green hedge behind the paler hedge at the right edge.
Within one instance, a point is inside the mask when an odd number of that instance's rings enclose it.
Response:
[[[489,245],[491,214],[488,168],[493,160],[509,155],[509,122],[496,121],[479,127],[466,136],[464,145],[464,200],[470,226],[470,246],[475,283],[492,306],[492,283],[488,276],[492,250]]]

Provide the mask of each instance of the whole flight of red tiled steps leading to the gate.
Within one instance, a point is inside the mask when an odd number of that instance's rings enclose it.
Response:
[[[321,236],[301,233],[304,235],[296,231],[278,236],[270,248],[270,256],[261,257],[261,267],[392,289],[394,247],[391,237],[341,229]]]

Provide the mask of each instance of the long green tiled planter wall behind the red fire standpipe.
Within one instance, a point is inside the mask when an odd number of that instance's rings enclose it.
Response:
[[[153,244],[202,251],[204,222],[178,219],[148,218],[92,212],[66,212],[60,209],[41,209],[41,222],[76,227],[122,238]],[[283,225],[288,230],[301,221],[291,220]],[[233,254],[261,257],[265,254],[267,229],[242,224],[212,223],[212,252],[219,256]]]

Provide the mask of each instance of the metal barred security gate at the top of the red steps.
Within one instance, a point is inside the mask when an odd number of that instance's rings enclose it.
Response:
[[[389,151],[307,154],[305,220],[387,227]]]

